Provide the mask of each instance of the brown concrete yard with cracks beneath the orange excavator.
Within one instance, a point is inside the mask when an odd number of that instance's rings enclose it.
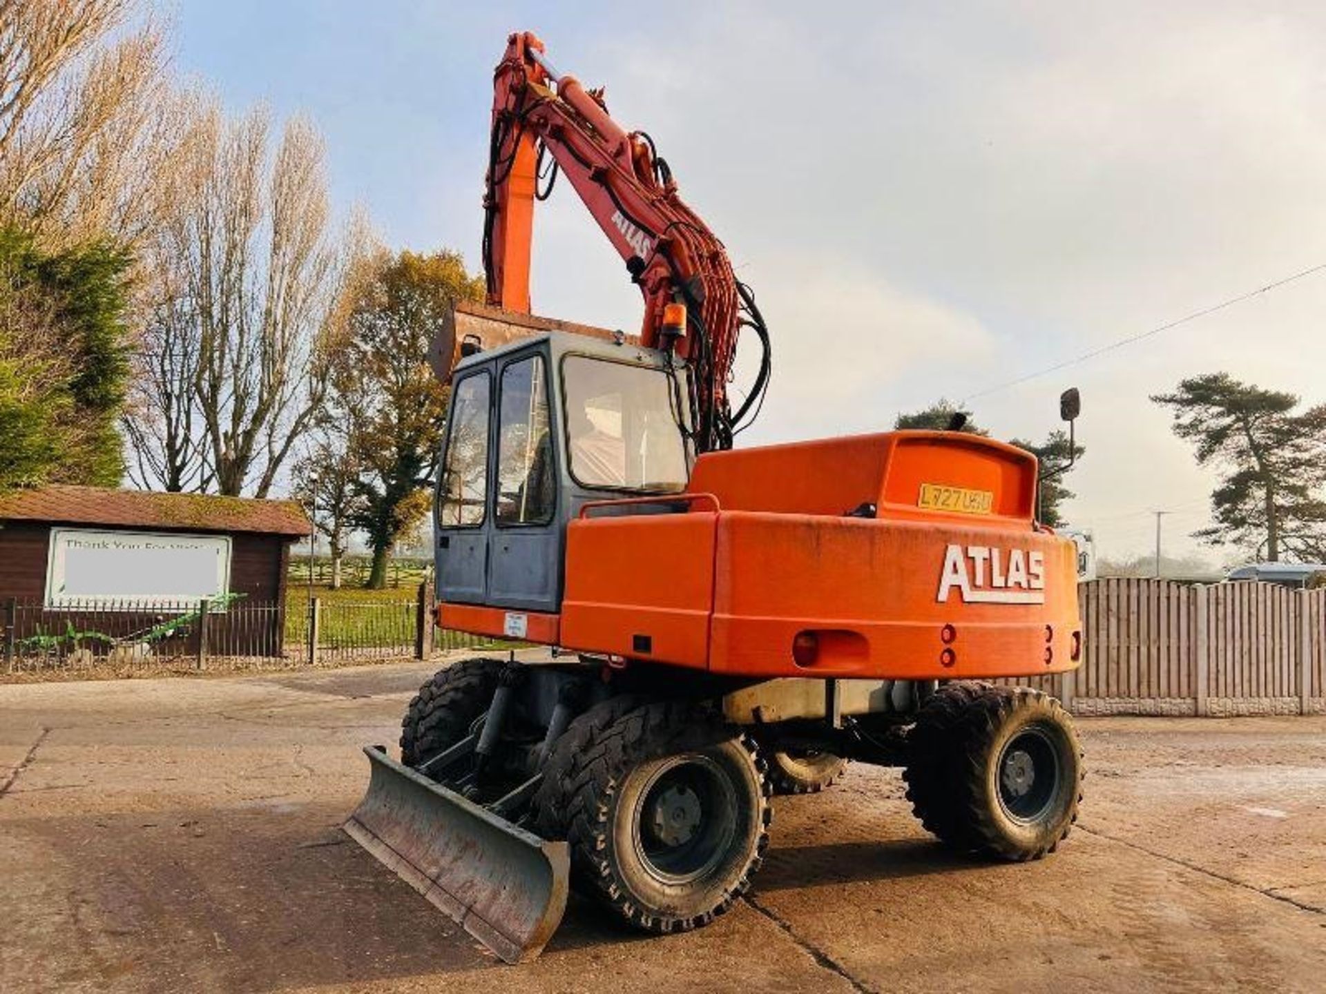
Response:
[[[0,990],[1326,990],[1326,717],[1083,720],[1079,827],[1029,865],[857,765],[776,802],[713,926],[573,897],[511,967],[337,828],[431,668],[0,687]]]

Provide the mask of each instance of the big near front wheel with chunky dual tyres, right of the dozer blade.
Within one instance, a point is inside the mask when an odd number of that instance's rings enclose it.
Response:
[[[751,887],[769,843],[754,742],[686,701],[614,697],[572,722],[534,798],[578,889],[633,928],[687,932]]]

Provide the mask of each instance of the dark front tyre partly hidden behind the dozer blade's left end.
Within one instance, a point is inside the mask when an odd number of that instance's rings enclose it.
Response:
[[[418,766],[469,734],[497,689],[501,660],[463,659],[419,688],[400,721],[400,762]]]

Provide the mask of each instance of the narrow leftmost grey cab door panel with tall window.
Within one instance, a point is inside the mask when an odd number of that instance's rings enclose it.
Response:
[[[452,603],[487,596],[492,392],[488,368],[452,384],[434,530],[438,598]]]

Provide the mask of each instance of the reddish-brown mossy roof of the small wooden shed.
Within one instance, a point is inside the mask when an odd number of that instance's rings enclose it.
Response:
[[[304,508],[296,501],[111,490],[65,484],[0,494],[0,521],[172,531],[252,531],[292,538],[308,535],[313,530]]]

